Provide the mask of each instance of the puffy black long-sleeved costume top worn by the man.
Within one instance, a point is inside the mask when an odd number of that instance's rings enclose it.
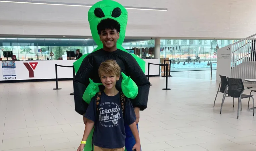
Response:
[[[75,109],[80,115],[84,115],[88,104],[83,100],[83,94],[89,84],[89,78],[95,83],[101,83],[98,75],[98,69],[102,62],[106,60],[116,60],[117,64],[121,67],[121,72],[131,79],[138,86],[138,94],[135,99],[130,99],[133,107],[139,107],[144,110],[147,107],[148,93],[150,89],[150,82],[146,75],[141,70],[139,64],[132,57],[131,54],[117,49],[114,52],[107,52],[103,49],[89,54],[82,62],[74,79],[74,97]],[[116,89],[122,91],[121,82],[122,76],[116,83]],[[99,86],[100,91],[104,90],[104,86]]]

